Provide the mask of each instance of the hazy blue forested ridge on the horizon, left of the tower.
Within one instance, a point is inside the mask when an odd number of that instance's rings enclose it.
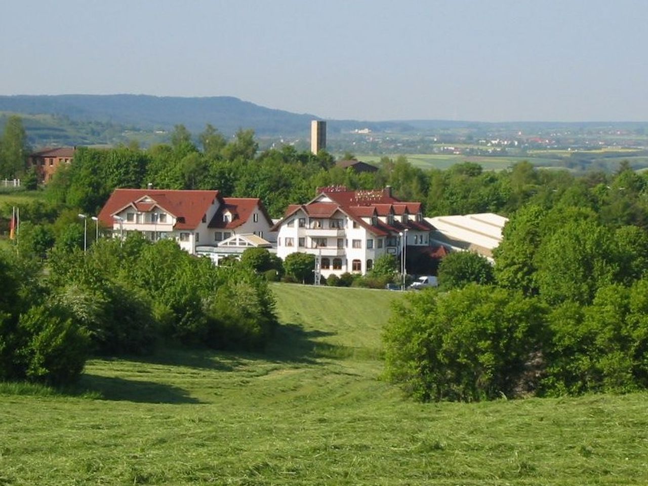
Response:
[[[252,128],[258,135],[308,133],[316,116],[273,110],[233,97],[155,97],[148,95],[0,96],[0,111],[49,114],[80,122],[110,122],[144,130],[184,124],[192,132],[211,123],[222,133]]]

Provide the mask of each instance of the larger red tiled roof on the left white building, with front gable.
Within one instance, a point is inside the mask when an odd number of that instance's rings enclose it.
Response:
[[[140,202],[145,197],[155,203]],[[113,216],[130,205],[143,212],[150,211],[157,205],[176,217],[174,229],[195,229],[216,200],[222,201],[218,191],[115,189],[99,212],[98,218],[104,226],[112,227]]]

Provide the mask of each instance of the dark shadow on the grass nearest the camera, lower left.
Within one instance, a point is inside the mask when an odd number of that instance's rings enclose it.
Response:
[[[200,400],[189,396],[187,391],[177,386],[87,373],[82,375],[75,388],[85,395],[97,394],[100,400],[167,404],[200,403]]]

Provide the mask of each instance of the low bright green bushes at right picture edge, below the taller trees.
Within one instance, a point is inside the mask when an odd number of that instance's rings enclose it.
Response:
[[[549,318],[545,393],[627,392],[648,386],[648,281],[599,289],[592,305],[566,302]]]

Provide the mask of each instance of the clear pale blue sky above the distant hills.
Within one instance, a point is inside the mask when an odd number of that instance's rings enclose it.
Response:
[[[0,95],[324,119],[648,121],[646,0],[2,0]]]

